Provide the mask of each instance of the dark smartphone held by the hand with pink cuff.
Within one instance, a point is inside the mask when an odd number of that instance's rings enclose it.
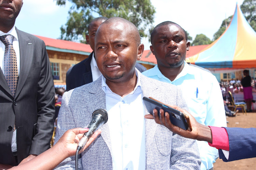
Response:
[[[157,109],[158,115],[160,113],[160,109],[162,108],[164,112],[168,112],[170,115],[171,123],[175,126],[178,126],[181,129],[192,131],[192,127],[190,124],[190,120],[188,115],[183,114],[180,111],[177,111],[176,109],[167,106],[166,104],[150,97],[143,97],[144,104],[147,108],[147,111],[153,115],[153,109]]]

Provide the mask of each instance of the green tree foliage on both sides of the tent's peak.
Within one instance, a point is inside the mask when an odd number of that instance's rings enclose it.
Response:
[[[256,0],[244,0],[240,8],[243,12],[245,19],[248,21],[253,30],[256,31]],[[231,15],[227,18],[227,25],[230,23],[232,17],[233,16]],[[219,30],[213,35],[213,41],[218,39],[225,30],[226,27],[224,19]]]

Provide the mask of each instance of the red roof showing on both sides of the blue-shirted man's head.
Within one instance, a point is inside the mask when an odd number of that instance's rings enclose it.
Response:
[[[209,45],[190,46],[189,51],[187,51],[187,53],[186,53],[186,57],[190,57],[190,56],[193,56],[193,55],[199,53],[207,46],[209,46]],[[157,64],[156,57],[155,57],[155,55],[152,54],[151,50],[144,50],[140,61]]]

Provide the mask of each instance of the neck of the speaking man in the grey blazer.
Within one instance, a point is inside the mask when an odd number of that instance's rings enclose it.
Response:
[[[136,73],[134,72],[134,75],[127,81],[112,82],[106,79],[106,84],[115,94],[125,97],[136,87],[137,79]]]

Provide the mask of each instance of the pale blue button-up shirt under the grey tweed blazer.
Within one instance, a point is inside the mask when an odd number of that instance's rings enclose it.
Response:
[[[136,75],[137,69],[136,69]],[[102,76],[114,170],[145,169],[145,121],[140,77],[124,98],[113,93]]]

